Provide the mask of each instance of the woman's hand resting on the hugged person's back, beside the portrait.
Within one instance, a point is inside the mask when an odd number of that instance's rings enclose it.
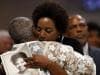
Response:
[[[35,55],[33,54],[32,57],[25,59],[27,62],[26,67],[35,67],[35,68],[46,68],[47,64],[49,63],[49,59],[43,55]]]

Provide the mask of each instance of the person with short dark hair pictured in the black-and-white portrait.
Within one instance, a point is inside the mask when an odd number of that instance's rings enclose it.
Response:
[[[37,69],[25,67],[27,64],[24,60],[25,58],[27,58],[27,55],[23,52],[16,53],[11,57],[11,62],[18,69],[18,73],[14,75],[38,75]]]

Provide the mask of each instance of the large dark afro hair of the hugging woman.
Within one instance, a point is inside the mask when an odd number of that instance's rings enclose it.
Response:
[[[36,7],[32,14],[32,19],[35,27],[37,27],[38,20],[43,17],[52,19],[55,23],[56,29],[60,33],[64,33],[67,27],[68,15],[66,10],[57,3],[45,2]]]

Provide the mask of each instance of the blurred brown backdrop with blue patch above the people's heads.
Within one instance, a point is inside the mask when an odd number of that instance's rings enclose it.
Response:
[[[0,29],[7,29],[14,17],[31,18],[34,8],[44,1],[57,2],[69,15],[81,14],[87,21],[95,21],[100,25],[100,0],[0,0]]]

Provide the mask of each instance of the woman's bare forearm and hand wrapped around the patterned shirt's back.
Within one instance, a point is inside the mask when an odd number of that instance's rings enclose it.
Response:
[[[47,69],[51,75],[67,75],[66,71],[55,62],[50,61],[43,55],[33,55],[31,60],[28,60],[28,67],[38,67]]]

